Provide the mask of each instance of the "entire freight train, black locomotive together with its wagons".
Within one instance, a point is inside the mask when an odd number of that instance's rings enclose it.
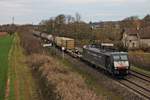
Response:
[[[57,47],[64,48],[67,53],[74,57],[79,57],[80,59],[94,64],[111,73],[115,76],[126,76],[130,70],[130,63],[128,59],[127,52],[113,51],[108,48],[113,46],[113,44],[102,43],[100,46],[88,45],[82,48],[82,53],[80,53],[75,47],[75,40],[66,37],[53,37],[52,35],[47,35],[46,33],[34,32],[37,37],[41,37],[46,41],[53,42]]]

